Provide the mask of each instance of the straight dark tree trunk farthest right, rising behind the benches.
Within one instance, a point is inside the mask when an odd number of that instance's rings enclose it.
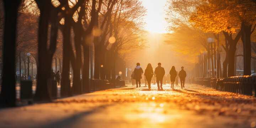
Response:
[[[244,75],[251,75],[251,28],[242,23],[242,42],[244,46]]]

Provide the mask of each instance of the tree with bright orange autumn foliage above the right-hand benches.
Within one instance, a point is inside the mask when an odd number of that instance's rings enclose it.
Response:
[[[229,1],[229,0],[209,0],[208,2],[204,2],[200,6],[197,7],[197,12],[191,17],[191,22],[196,23],[195,26],[201,28],[204,32],[214,32],[219,33],[223,32],[226,37],[227,43],[226,46],[223,45],[223,48],[227,52],[228,59],[228,76],[234,76],[234,58],[236,51],[236,44],[238,43],[241,35],[246,36],[244,34],[246,25],[248,25],[248,17],[251,17],[249,14],[249,10],[252,10],[251,7],[248,7],[247,4],[249,1]],[[253,14],[252,14],[253,15]],[[247,17],[247,18],[244,18]],[[247,20],[245,20],[247,19]],[[245,23],[246,21],[246,23]],[[250,25],[254,21],[254,19],[249,20]],[[245,25],[246,24],[246,25]],[[250,32],[247,32],[251,35],[252,27],[247,29]],[[247,26],[248,27],[248,26]],[[234,37],[233,34],[237,33]],[[250,41],[250,37],[247,36],[247,41]],[[243,39],[242,39],[243,40]],[[244,43],[245,46],[245,43]],[[247,45],[248,46],[248,45]],[[250,47],[250,44],[249,44]],[[248,48],[244,48],[244,51]],[[249,48],[249,52],[251,50]],[[250,54],[249,53],[249,54]],[[250,55],[251,56],[251,55]],[[245,59],[246,60],[246,57]],[[251,61],[249,61],[251,63]],[[244,64],[246,66],[246,62]],[[250,65],[250,64],[248,64]],[[250,68],[247,66],[247,68]],[[249,70],[250,71],[250,70]],[[223,72],[224,73],[224,72]],[[246,73],[246,71],[245,71]],[[225,73],[224,73],[225,76]]]

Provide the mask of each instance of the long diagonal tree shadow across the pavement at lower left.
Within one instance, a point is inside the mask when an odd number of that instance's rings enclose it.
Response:
[[[76,114],[73,114],[69,117],[62,118],[62,119],[54,121],[52,123],[48,123],[48,124],[45,124],[43,126],[38,126],[38,127],[35,127],[35,128],[63,128],[63,127],[72,128],[72,126],[74,124],[76,124],[78,121],[80,121],[81,118],[89,116],[92,113],[104,110],[106,107],[109,107],[109,106],[111,106],[111,105],[101,105],[101,106],[95,107],[92,110],[76,113]]]

